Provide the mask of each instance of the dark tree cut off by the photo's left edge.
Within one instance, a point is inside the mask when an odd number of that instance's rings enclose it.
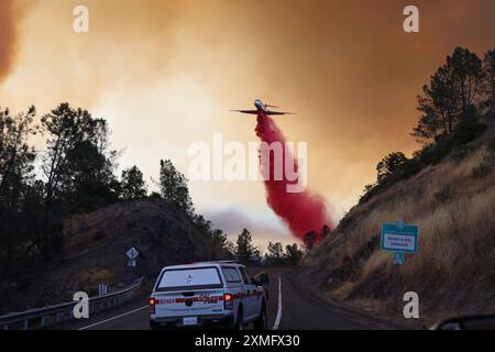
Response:
[[[22,265],[40,217],[32,197],[36,151],[29,144],[38,132],[34,117],[34,107],[15,117],[0,109],[0,280]]]

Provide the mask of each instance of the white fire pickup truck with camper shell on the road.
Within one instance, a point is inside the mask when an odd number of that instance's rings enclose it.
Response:
[[[266,329],[264,285],[244,265],[232,261],[166,266],[150,298],[150,326],[161,328],[223,327]]]

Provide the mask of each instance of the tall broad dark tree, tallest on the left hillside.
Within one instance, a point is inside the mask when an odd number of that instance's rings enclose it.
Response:
[[[54,243],[59,242],[64,217],[117,201],[113,168],[118,153],[108,151],[107,122],[94,119],[87,110],[62,103],[42,118],[42,125],[48,134],[42,165],[45,215],[34,243],[48,260]]]

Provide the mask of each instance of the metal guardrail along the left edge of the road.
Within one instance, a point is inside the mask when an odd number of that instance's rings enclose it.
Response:
[[[105,296],[90,297],[88,299],[89,315],[129,301],[134,297],[142,283],[143,278],[140,278],[124,289]],[[77,304],[78,301],[69,301],[0,316],[0,330],[43,329],[48,326],[73,320],[75,319],[74,307]]]

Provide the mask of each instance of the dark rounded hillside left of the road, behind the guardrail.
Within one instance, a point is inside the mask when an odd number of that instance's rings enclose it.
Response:
[[[35,264],[9,284],[0,284],[0,314],[90,295],[98,284],[121,287],[132,280],[125,252],[141,253],[138,275],[150,284],[167,264],[227,257],[228,253],[162,200],[116,204],[64,221],[64,249],[46,264]],[[15,298],[15,299],[14,299]]]

